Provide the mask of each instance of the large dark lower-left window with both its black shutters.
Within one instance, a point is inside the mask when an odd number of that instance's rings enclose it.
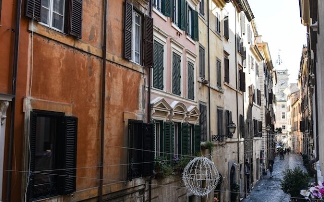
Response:
[[[75,191],[77,118],[34,110],[29,135],[30,200]]]

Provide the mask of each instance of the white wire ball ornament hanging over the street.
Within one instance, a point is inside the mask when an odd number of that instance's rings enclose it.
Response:
[[[205,196],[215,189],[220,175],[214,162],[206,157],[196,157],[184,168],[182,180],[191,193]]]

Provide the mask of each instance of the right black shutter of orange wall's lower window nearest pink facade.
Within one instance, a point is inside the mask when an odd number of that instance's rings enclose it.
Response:
[[[154,161],[154,126],[152,123],[143,123],[143,165],[144,176],[152,174]]]

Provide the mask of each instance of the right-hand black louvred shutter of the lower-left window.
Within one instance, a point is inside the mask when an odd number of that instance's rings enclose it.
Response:
[[[75,191],[76,181],[76,141],[77,141],[77,118],[66,116],[64,120],[65,144],[64,144],[64,171],[63,187],[64,194]]]

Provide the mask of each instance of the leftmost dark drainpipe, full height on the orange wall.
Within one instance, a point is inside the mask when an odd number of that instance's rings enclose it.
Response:
[[[14,95],[10,105],[10,133],[9,133],[9,149],[8,149],[8,175],[7,175],[7,202],[11,201],[11,181],[12,181],[12,161],[13,161],[13,144],[14,144],[14,129],[15,129],[15,106],[16,106],[16,84],[18,71],[18,55],[19,55],[19,36],[20,36],[20,13],[21,0],[17,0],[16,9],[16,30],[15,30],[15,44],[14,44],[14,61],[12,71],[12,86],[11,94]],[[1,198],[0,198],[1,199]]]

